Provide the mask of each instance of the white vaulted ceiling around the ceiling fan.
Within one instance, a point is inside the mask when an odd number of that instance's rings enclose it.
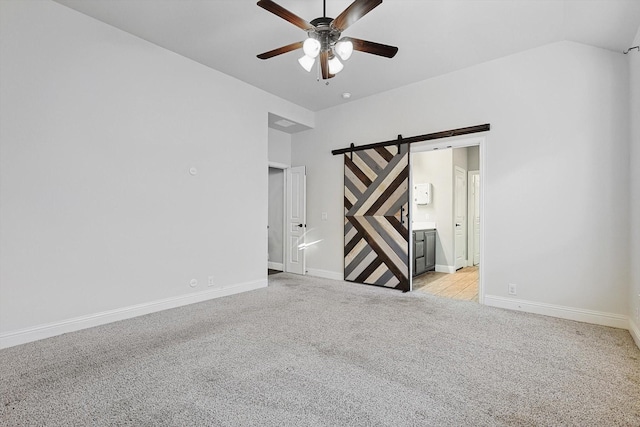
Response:
[[[640,26],[639,0],[384,0],[343,35],[398,46],[396,57],[354,52],[318,81],[298,64],[302,51],[256,58],[306,34],[255,0],[57,1],[313,111],[555,41],[622,52]],[[322,16],[321,0],[275,1]],[[328,0],[327,16],[350,3]]]

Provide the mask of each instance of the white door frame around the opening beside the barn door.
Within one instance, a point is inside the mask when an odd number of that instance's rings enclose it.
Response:
[[[484,304],[484,277],[485,270],[487,268],[486,262],[486,249],[485,249],[485,236],[487,227],[485,225],[485,214],[484,214],[484,200],[485,200],[485,188],[487,188],[487,140],[489,136],[475,136],[469,137],[468,135],[462,135],[451,138],[443,138],[438,140],[431,141],[421,141],[414,142],[410,144],[410,153],[419,153],[422,151],[433,151],[433,150],[442,150],[447,148],[464,148],[464,147],[473,147],[478,146],[480,152],[480,268],[478,269],[478,303]],[[411,173],[409,174],[411,176]],[[409,187],[411,190],[412,187]],[[413,233],[412,233],[412,221],[409,221],[409,226],[411,229],[409,230],[409,238],[410,244],[413,245]]]

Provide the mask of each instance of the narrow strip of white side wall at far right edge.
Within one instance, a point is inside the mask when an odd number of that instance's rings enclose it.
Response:
[[[640,28],[631,46],[640,45]],[[629,318],[632,321],[631,330],[636,344],[640,347],[640,52],[633,50],[627,55],[630,76],[630,115],[631,118],[631,155],[629,156],[631,182],[631,235],[630,270],[631,285],[629,286]]]

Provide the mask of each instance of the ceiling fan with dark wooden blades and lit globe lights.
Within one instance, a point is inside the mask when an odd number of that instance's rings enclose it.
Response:
[[[271,0],[260,0],[258,6],[303,29],[307,32],[308,38],[304,42],[291,43],[261,53],[258,58],[269,59],[302,48],[304,56],[298,62],[310,72],[316,57],[320,56],[320,70],[323,80],[330,79],[339,73],[343,64],[338,58],[346,61],[354,50],[393,58],[398,53],[398,48],[395,46],[353,37],[340,38],[344,30],[381,3],[382,0],[355,0],[337,18],[333,19],[326,16],[327,4],[326,0],[323,0],[323,16],[307,22]]]

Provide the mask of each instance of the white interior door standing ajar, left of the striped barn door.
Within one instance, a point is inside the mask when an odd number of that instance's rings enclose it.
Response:
[[[305,274],[306,170],[304,166],[287,169],[286,257],[285,271]]]

